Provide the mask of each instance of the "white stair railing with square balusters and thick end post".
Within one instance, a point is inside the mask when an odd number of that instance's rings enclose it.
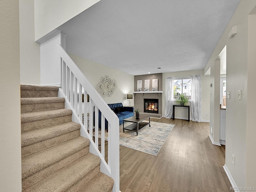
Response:
[[[100,171],[114,179],[112,191],[119,192],[118,117],[59,44],[58,53],[61,71],[60,96],[63,96],[67,101],[65,107],[73,110],[72,120],[81,124],[81,136],[90,139],[90,152],[101,158]],[[84,95],[84,102],[82,102],[82,94]],[[87,94],[90,98],[89,102],[87,102]],[[101,112],[101,129],[98,129],[99,110]],[[105,161],[105,118],[108,121],[108,162]],[[95,122],[95,126],[93,122]],[[99,132],[101,132],[102,138],[101,151],[98,150]]]

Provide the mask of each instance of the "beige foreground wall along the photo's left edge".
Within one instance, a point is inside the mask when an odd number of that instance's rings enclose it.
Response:
[[[18,1],[0,6],[0,191],[21,191]]]

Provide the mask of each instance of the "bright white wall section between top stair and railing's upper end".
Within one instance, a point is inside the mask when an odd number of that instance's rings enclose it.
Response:
[[[61,33],[40,44],[40,84],[60,85],[60,58],[57,45],[61,44]]]

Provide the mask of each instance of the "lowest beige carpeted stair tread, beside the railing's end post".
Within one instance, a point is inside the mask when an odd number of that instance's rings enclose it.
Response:
[[[94,178],[87,182],[78,192],[110,192],[114,180],[106,174],[99,172]]]

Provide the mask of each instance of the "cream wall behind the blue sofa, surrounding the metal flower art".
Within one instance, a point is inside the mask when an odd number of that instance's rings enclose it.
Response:
[[[69,56],[96,90],[97,84],[100,82],[102,76],[104,77],[105,75],[108,75],[109,78],[117,81],[117,89],[114,94],[111,97],[102,97],[106,103],[122,102],[124,106],[129,106],[129,100],[126,99],[126,94],[132,94],[134,91],[133,75],[86,60],[73,54],[69,54]],[[133,99],[131,100],[131,106],[134,106]]]

